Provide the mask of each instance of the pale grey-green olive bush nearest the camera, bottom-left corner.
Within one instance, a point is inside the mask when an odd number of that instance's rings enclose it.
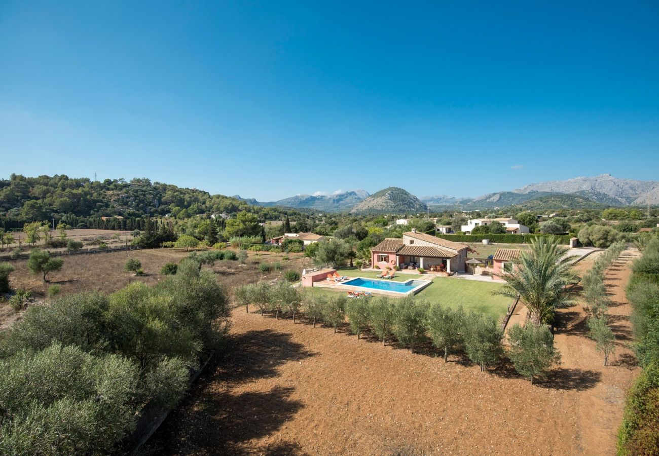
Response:
[[[109,453],[135,422],[138,368],[121,355],[51,345],[0,360],[3,454]]]

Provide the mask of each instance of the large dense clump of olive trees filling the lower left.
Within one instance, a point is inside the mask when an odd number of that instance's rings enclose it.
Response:
[[[0,334],[0,454],[110,454],[173,407],[227,330],[225,292],[186,260],[150,287],[30,306]]]

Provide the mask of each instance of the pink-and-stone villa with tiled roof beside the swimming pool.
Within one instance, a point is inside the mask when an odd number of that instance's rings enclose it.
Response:
[[[373,266],[386,268],[424,268],[444,266],[445,271],[465,271],[465,244],[447,241],[432,235],[417,233],[416,229],[403,233],[403,239],[387,238],[371,249]]]

